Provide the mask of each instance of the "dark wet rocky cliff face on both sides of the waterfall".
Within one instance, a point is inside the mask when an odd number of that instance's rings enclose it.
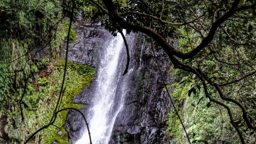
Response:
[[[68,59],[78,64],[97,67],[101,59],[103,42],[111,38],[99,23],[83,23],[73,27],[77,41],[70,44]],[[125,104],[118,113],[112,130],[110,144],[162,144],[165,138],[166,120],[172,106],[164,91],[163,81],[156,65],[150,43],[139,34],[131,34],[135,45],[131,49],[131,65],[134,71],[128,78]],[[65,47],[65,46],[64,46]],[[62,50],[65,52],[65,49]],[[166,54],[156,49],[156,58],[160,63],[165,82],[175,82],[171,75]],[[95,82],[85,88],[76,97],[74,103],[90,105]],[[87,114],[87,106],[81,108]],[[69,111],[65,128],[74,143],[81,137],[85,124],[75,111]]]

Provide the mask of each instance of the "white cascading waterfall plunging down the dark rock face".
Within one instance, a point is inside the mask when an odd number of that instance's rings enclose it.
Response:
[[[126,31],[123,31],[123,33],[126,34]],[[119,57],[123,48],[121,34],[118,33],[112,41],[106,44],[108,44],[108,46],[104,51],[104,57],[101,58],[98,68],[93,106],[88,112],[89,115],[91,115],[88,119],[88,123],[93,144],[108,144],[115,118],[123,104],[123,98],[120,98],[121,101],[118,106],[114,106],[115,92],[118,87],[116,80],[122,77],[120,72],[117,72],[118,63],[120,63]],[[121,86],[121,93],[119,93],[121,97],[125,95],[126,90],[124,89],[126,89],[126,86]],[[115,107],[114,113],[112,110],[113,107]],[[79,139],[76,144],[89,143],[88,131],[86,129],[81,139]]]

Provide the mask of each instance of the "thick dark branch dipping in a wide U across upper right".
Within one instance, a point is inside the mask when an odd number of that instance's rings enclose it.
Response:
[[[130,23],[130,22],[126,21],[117,12],[117,9],[115,8],[114,3],[113,3],[112,0],[102,0],[102,1],[103,1],[104,5],[107,7],[107,10],[109,12],[109,17],[113,21],[118,23],[121,27],[126,28],[126,29],[132,29],[132,30],[139,31],[139,32],[142,32],[142,33],[145,33],[145,34],[149,35],[160,46],[162,46],[164,49],[166,49],[167,52],[171,52],[172,54],[174,54],[175,56],[177,56],[181,59],[193,58],[198,52],[200,52],[205,46],[207,46],[212,41],[212,39],[214,39],[215,34],[218,30],[218,27],[225,20],[228,20],[231,16],[233,16],[233,14],[235,14],[236,12],[243,11],[243,10],[253,8],[253,7],[256,6],[256,3],[254,3],[254,4],[249,5],[249,6],[243,6],[243,7],[238,7],[237,8],[238,3],[239,3],[240,0],[235,0],[232,4],[232,7],[230,8],[230,10],[227,13],[225,13],[224,15],[222,15],[222,17],[217,19],[216,22],[214,22],[212,24],[212,27],[210,28],[210,31],[209,31],[208,35],[205,38],[202,39],[201,44],[199,44],[197,47],[195,47],[195,49],[193,49],[191,52],[183,53],[183,52],[180,52],[180,51],[176,50],[173,46],[168,44],[166,39],[164,39],[159,33],[155,32],[151,28],[146,27],[146,26],[140,26],[138,24],[134,24],[134,23]]]

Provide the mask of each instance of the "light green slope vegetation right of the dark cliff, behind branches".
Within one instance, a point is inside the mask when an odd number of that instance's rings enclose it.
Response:
[[[181,38],[179,40],[179,49],[182,52],[191,51],[191,45],[189,44],[189,40],[200,40],[198,38],[195,39],[195,33],[186,32],[184,27],[182,27],[179,30],[179,33],[181,35]],[[245,53],[243,53],[246,52],[244,47],[242,47],[240,50],[240,55],[243,55],[244,58],[247,57],[244,55]],[[232,47],[227,46],[225,52],[222,52],[221,54],[222,59],[228,61],[230,52],[232,52]],[[202,72],[208,72],[208,80],[223,83],[224,81],[227,82],[236,79],[234,77],[236,75],[236,72],[232,70],[230,65],[219,63],[219,61],[215,59],[216,56],[211,57],[210,55],[210,52],[206,52],[202,53],[202,56],[197,56],[194,59],[185,59],[182,60],[182,62],[185,65],[194,65],[195,67],[199,67],[202,70]],[[227,67],[229,67],[229,69],[227,69]],[[252,69],[249,71],[252,71]],[[200,82],[201,80],[198,79],[195,74],[193,75],[189,72],[184,72],[180,69],[175,69],[174,74],[176,78],[182,77],[182,80],[179,83],[170,85],[174,87],[174,90],[172,92],[172,98],[175,100],[175,107],[179,110],[179,115],[182,116],[182,123],[184,124],[186,131],[189,134],[190,141],[192,143],[207,144],[226,144],[230,142],[232,144],[240,144],[239,135],[232,128],[232,124],[229,123],[229,114],[221,105],[216,105],[216,103],[209,101],[209,98],[207,98],[205,95],[205,90],[203,89],[204,87]],[[254,78],[254,76],[252,76],[252,78]],[[244,84],[245,83],[246,82],[244,82]],[[245,95],[241,95],[243,93],[242,91],[244,91],[243,86],[245,85],[243,85],[242,87],[241,86],[242,85],[239,85],[239,83],[234,85],[227,85],[226,87],[222,87],[222,93],[224,95],[228,95],[229,97],[237,99],[239,99],[239,97],[246,98],[244,97]],[[247,85],[246,87],[249,88],[245,90],[246,93],[253,93],[254,86]],[[207,87],[207,90],[212,98],[217,99],[222,103],[225,103],[225,105],[229,107],[231,113],[235,115],[234,120],[236,121],[237,126],[239,126],[239,128],[244,132],[243,137],[246,138],[248,141],[251,141],[251,135],[255,135],[255,132],[250,131],[247,134],[245,134],[246,126],[244,123],[242,123],[242,111],[239,110],[238,106],[234,105],[233,103],[225,102],[224,100],[222,100],[218,96],[219,94],[216,91],[216,89],[214,89],[214,87],[209,86]],[[240,94],[236,92],[239,92]],[[182,100],[183,105],[181,105]],[[251,103],[249,102],[248,105],[251,105]],[[251,110],[254,111],[253,109]],[[181,122],[176,116],[174,110],[172,110],[171,113],[169,114],[167,124],[167,131],[169,135],[173,136],[173,143],[188,143],[185,132],[184,130],[182,131],[183,128]]]

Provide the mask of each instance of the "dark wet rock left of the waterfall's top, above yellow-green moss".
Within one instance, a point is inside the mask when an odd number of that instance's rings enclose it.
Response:
[[[79,22],[73,26],[73,29],[76,31],[76,41],[69,44],[68,60],[77,64],[97,67],[98,59],[101,58],[100,51],[110,34],[98,22]],[[66,55],[66,46],[65,43],[61,49],[63,58]]]

